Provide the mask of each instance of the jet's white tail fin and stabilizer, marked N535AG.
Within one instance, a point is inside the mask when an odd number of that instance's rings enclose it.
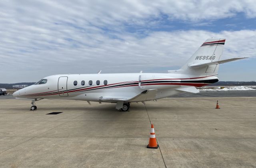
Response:
[[[191,74],[198,76],[213,76],[218,74],[219,64],[240,60],[248,57],[220,60],[225,38],[209,38],[196,50],[180,70],[168,71],[170,73]]]

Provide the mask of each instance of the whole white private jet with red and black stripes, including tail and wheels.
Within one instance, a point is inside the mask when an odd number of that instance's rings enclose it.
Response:
[[[180,70],[168,73],[62,74],[41,79],[32,86],[14,92],[16,99],[70,99],[116,103],[116,109],[128,111],[131,102],[166,98],[182,92],[198,93],[195,87],[218,82],[219,64],[248,57],[220,60],[225,38],[209,38]]]

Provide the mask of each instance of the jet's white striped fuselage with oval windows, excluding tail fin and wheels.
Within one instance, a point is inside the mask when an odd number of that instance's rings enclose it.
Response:
[[[155,100],[180,93],[179,90],[176,90],[177,88],[205,86],[218,81],[218,78],[215,76],[194,76],[172,73],[61,74],[48,76],[43,79],[46,79],[47,82],[20,89],[14,92],[14,97],[100,102],[100,98],[105,97],[126,98],[129,100],[129,98],[133,98],[145,90],[156,90],[154,98],[151,96],[149,99]],[[74,81],[77,81],[77,84]],[[91,85],[89,81],[92,81]],[[97,81],[100,84],[96,83]],[[140,99],[127,102],[148,100],[147,98]]]

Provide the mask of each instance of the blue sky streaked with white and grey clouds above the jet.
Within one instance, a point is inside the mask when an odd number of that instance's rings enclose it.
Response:
[[[0,0],[0,83],[167,72],[226,38],[221,81],[256,80],[255,0]]]

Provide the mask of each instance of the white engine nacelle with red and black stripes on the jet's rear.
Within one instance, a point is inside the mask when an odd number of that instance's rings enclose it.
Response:
[[[179,87],[180,80],[172,78],[170,76],[160,75],[140,75],[139,76],[139,87],[141,89],[166,89]]]

